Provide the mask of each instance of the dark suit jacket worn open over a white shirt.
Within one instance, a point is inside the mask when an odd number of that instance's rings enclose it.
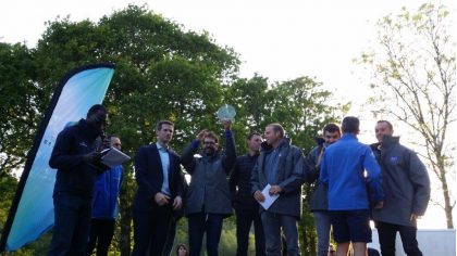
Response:
[[[183,177],[181,175],[180,156],[169,150],[170,169],[169,188],[171,202],[180,195],[184,199]],[[158,205],[155,195],[162,190],[163,171],[157,144],[141,146],[135,156],[136,191],[133,209],[137,212],[152,212]]]

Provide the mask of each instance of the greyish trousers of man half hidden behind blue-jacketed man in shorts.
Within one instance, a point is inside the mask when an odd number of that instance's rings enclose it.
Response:
[[[316,230],[318,231],[318,255],[328,256],[330,243],[330,229],[332,227],[330,214],[326,210],[314,210]]]

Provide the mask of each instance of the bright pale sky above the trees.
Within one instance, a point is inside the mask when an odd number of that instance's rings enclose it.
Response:
[[[0,41],[35,47],[45,31],[45,22],[57,16],[72,21],[89,18],[144,4],[186,29],[207,30],[217,43],[240,54],[240,75],[255,73],[270,81],[316,77],[344,101],[353,101],[349,114],[358,115],[368,93],[361,68],[353,63],[375,42],[375,22],[402,7],[416,10],[424,1],[400,0],[8,0],[0,8]],[[441,1],[455,12],[455,3]],[[372,141],[372,124],[363,127],[366,142]],[[455,187],[454,187],[455,188]],[[439,196],[439,194],[436,195]],[[429,208],[422,228],[445,228],[436,207]]]

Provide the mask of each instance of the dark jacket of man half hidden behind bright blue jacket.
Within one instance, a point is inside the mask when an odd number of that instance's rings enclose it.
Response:
[[[324,146],[318,145],[309,152],[306,157],[305,166],[305,176],[306,181],[311,183],[312,192],[309,199],[309,210],[328,210],[329,208],[329,190],[328,187],[319,182],[319,169],[318,158],[321,153],[323,153]],[[322,157],[322,156],[321,156]]]

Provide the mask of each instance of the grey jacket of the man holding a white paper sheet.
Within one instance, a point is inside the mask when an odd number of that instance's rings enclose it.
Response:
[[[265,142],[262,143],[260,156],[257,158],[252,170],[251,183],[254,194],[256,191],[262,191],[268,184],[264,174],[265,154],[272,149]],[[274,214],[289,215],[300,218],[301,214],[301,184],[304,182],[304,155],[301,150],[291,145],[291,140],[285,138],[279,145],[280,154],[277,158],[276,174],[274,184],[283,189],[280,197],[268,209]],[[263,210],[263,207],[260,206]]]

